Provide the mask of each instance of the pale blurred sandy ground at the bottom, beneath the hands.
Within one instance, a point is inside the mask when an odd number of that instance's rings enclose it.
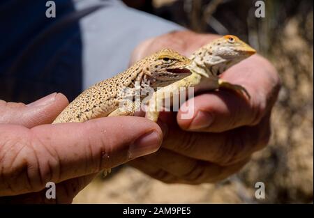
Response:
[[[230,185],[232,184],[227,186]],[[225,199],[230,199],[230,201],[225,201]],[[240,202],[241,199],[234,189],[211,184],[167,185],[131,167],[124,167],[119,173],[105,180],[99,176],[73,201],[73,203]]]

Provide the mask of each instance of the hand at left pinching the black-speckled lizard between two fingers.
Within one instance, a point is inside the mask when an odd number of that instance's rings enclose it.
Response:
[[[0,100],[0,202],[71,203],[96,173],[160,146],[160,127],[145,118],[48,124],[67,104],[60,93],[27,105]],[[55,199],[45,198],[50,181]]]

